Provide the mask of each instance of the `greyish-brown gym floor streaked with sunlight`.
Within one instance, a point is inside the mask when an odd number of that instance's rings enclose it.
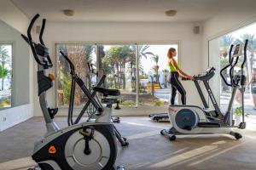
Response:
[[[66,118],[55,120],[61,126]],[[148,117],[122,117],[116,124],[128,137],[130,146],[119,147],[117,165],[130,170],[255,170],[256,132],[243,130],[243,138],[228,135],[180,136],[175,142],[160,135],[168,123],[149,121]],[[44,135],[42,117],[32,118],[0,133],[0,169],[26,169],[34,164],[30,155],[33,142]]]

